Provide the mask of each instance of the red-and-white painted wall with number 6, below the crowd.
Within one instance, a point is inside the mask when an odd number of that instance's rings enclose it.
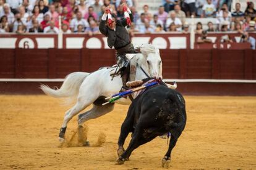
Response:
[[[228,34],[233,42],[239,42],[241,34],[238,33],[208,33],[208,38],[213,43],[220,42],[223,35]],[[195,34],[195,41],[200,36]],[[250,36],[256,38],[256,33],[250,33]],[[135,47],[144,43],[154,44],[159,49],[190,49],[191,35],[185,33],[157,33],[140,34],[137,33],[131,38]],[[190,41],[192,40],[192,41]],[[107,38],[101,34],[89,36],[88,34],[0,34],[1,49],[109,49]],[[195,47],[197,48],[197,47]],[[247,46],[245,47],[247,49]]]

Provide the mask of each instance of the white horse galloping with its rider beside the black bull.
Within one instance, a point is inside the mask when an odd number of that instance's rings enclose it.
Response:
[[[140,48],[142,54],[136,54],[137,71],[135,80],[150,77],[162,77],[162,62],[159,49],[151,44],[143,44]],[[104,57],[104,56],[102,56]],[[144,71],[145,73],[144,73]],[[77,98],[74,107],[66,111],[64,120],[59,133],[60,142],[64,142],[64,134],[66,132],[67,123],[77,113],[87,108],[93,103],[91,110],[85,111],[78,116],[79,127],[89,119],[95,119],[109,113],[114,109],[114,103],[102,106],[99,100],[116,94],[122,87],[121,76],[112,78],[108,68],[97,70],[93,73],[75,72],[66,76],[64,83],[60,89],[51,89],[49,86],[41,85],[40,88],[45,94],[53,97],[66,97],[69,100]],[[121,98],[116,101],[122,105],[130,105],[129,98]]]

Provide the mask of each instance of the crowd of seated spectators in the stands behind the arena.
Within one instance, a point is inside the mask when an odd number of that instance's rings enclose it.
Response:
[[[134,15],[129,26],[130,34],[163,33],[177,31],[189,33],[186,17],[216,17],[216,23],[208,22],[207,31],[256,31],[256,10],[248,2],[245,11],[241,4],[231,12],[231,0],[164,0],[156,14],[147,4],[138,13],[132,0],[0,0],[0,33],[99,33],[98,23],[105,7],[109,7],[118,19],[124,17],[121,4],[126,3]],[[61,28],[59,28],[61,16]],[[202,33],[198,22],[195,33]]]

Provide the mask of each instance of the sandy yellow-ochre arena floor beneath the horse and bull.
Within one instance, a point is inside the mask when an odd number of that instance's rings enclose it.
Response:
[[[187,126],[169,169],[256,169],[256,97],[186,96]],[[126,106],[88,121],[88,140],[100,147],[74,147],[77,118],[60,147],[59,127],[67,107],[46,95],[0,95],[0,169],[162,169],[166,139],[157,137],[116,165],[117,139]],[[75,135],[74,135],[75,134]],[[130,140],[126,141],[127,143]],[[71,147],[70,147],[71,146]]]

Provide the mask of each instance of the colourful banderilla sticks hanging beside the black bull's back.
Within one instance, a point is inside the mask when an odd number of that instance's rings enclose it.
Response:
[[[106,103],[103,103],[102,105],[106,105],[108,103],[114,103],[114,101],[120,99],[121,97],[124,97],[126,95],[129,95],[129,94],[132,94],[133,92],[135,91],[140,91],[142,89],[145,89],[145,88],[148,88],[148,87],[151,87],[151,86],[155,86],[156,84],[158,84],[159,81],[154,81],[154,82],[151,82],[151,83],[148,83],[148,84],[145,84],[143,86],[140,86],[140,87],[136,87],[134,89],[129,89],[127,91],[124,91],[124,92],[119,92],[117,94],[114,94],[110,97],[106,97],[105,100],[109,100],[108,102]]]

